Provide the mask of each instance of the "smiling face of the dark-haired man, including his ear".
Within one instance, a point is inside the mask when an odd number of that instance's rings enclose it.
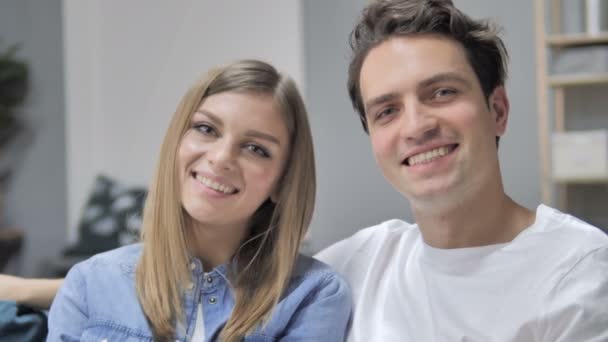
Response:
[[[459,43],[391,38],[365,58],[360,87],[376,162],[413,206],[453,205],[500,181],[507,96],[498,87],[486,101]]]

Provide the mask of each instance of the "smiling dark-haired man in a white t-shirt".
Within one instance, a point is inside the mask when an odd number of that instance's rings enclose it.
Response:
[[[350,282],[349,341],[607,341],[608,237],[504,192],[507,53],[450,0],[380,0],[351,34],[348,90],[416,224],[318,258]]]

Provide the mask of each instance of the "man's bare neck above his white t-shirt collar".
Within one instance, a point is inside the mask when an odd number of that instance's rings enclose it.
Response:
[[[512,241],[535,219],[498,186],[444,210],[412,208],[424,241],[436,248],[487,246]]]

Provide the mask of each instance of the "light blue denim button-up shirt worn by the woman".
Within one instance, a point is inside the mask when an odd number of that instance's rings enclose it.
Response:
[[[51,305],[47,341],[152,341],[135,290],[142,245],[122,247],[75,265]],[[205,341],[215,341],[234,306],[226,267],[204,273],[191,263],[183,324],[176,341],[190,341],[202,303]],[[343,341],[351,315],[346,282],[320,261],[300,256],[288,289],[268,323],[245,341]]]

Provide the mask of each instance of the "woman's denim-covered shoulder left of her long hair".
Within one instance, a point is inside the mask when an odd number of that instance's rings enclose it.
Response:
[[[135,287],[140,254],[141,245],[130,245],[72,267],[51,305],[49,341],[152,340]]]

